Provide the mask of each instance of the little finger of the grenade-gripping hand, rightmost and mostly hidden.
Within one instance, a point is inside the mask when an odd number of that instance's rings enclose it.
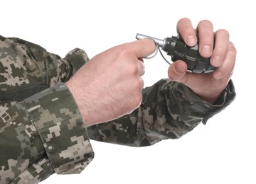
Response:
[[[223,61],[223,64],[214,71],[213,77],[215,79],[222,79],[227,74],[232,74],[233,73],[232,70],[235,65],[235,58],[236,58],[235,46],[233,45],[232,42],[229,42],[228,51]]]

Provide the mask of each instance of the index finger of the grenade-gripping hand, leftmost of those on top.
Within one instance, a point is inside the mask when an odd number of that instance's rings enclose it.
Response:
[[[186,45],[193,47],[196,45],[197,38],[191,21],[188,18],[181,18],[177,23],[177,32],[181,34],[181,38]]]

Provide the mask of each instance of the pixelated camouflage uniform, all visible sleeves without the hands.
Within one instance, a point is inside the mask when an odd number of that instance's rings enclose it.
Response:
[[[142,105],[130,115],[86,129],[65,86],[89,60],[83,50],[60,58],[0,35],[0,59],[0,183],[39,183],[53,173],[80,173],[94,157],[90,139],[148,146],[179,138],[235,98],[232,81],[211,105],[183,84],[162,79],[144,88]]]

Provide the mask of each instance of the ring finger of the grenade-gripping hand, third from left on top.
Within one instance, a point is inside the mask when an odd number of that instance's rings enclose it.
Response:
[[[213,55],[210,58],[210,64],[213,67],[220,67],[225,59],[226,52],[228,51],[229,33],[226,30],[218,30],[215,33],[215,46]]]

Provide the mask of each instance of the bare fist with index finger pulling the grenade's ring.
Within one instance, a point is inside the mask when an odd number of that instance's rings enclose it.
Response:
[[[85,126],[114,120],[139,107],[144,86],[142,58],[155,50],[148,39],[112,47],[90,59],[66,83]]]

